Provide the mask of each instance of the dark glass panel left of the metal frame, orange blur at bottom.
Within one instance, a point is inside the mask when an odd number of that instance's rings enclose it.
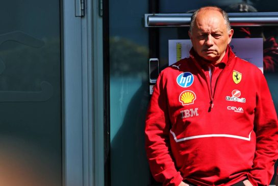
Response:
[[[62,185],[60,1],[0,5],[0,183]]]

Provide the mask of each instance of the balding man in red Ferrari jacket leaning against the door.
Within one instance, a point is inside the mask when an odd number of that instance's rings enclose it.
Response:
[[[228,15],[191,17],[190,57],[158,77],[146,116],[150,170],[163,185],[268,185],[277,115],[258,67],[235,56]]]

